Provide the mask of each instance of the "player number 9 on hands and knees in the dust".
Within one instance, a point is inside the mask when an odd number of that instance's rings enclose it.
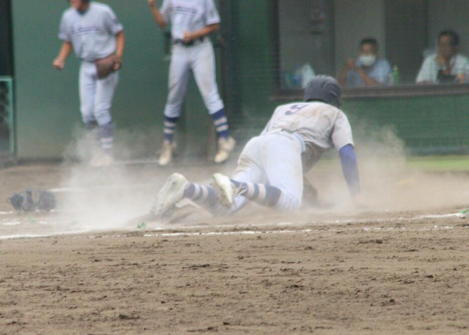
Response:
[[[231,179],[215,174],[209,187],[173,174],[158,194],[154,214],[165,216],[183,198],[214,214],[236,212],[249,201],[279,211],[298,210],[303,175],[332,147],[339,151],[345,181],[358,201],[357,158],[350,124],[338,109],[340,96],[334,78],[315,77],[306,87],[304,102],[277,107],[261,135],[246,144]]]

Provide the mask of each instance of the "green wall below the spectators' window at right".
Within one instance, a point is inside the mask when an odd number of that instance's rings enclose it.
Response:
[[[469,152],[469,95],[352,99],[343,110],[352,126],[391,129],[409,153]]]

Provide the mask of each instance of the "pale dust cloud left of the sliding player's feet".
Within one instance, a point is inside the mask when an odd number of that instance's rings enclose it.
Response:
[[[88,163],[100,150],[96,134],[77,130],[74,137],[64,154],[67,173],[57,190],[61,210],[67,218],[83,230],[109,230],[128,228],[129,221],[148,214],[164,180],[152,174],[148,167],[119,161],[112,166],[93,168]],[[126,132],[122,137],[130,143],[132,134]],[[119,141],[114,145],[119,159],[130,157],[133,151],[145,151],[125,143]]]

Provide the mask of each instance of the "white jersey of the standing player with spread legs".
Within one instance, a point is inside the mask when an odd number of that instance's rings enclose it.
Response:
[[[185,32],[220,23],[213,0],[164,0],[160,12],[171,23],[173,39],[182,40]]]

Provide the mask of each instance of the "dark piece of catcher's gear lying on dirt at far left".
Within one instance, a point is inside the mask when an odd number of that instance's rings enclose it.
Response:
[[[8,200],[18,212],[49,212],[55,208],[54,194],[46,191],[26,190],[15,193]]]

